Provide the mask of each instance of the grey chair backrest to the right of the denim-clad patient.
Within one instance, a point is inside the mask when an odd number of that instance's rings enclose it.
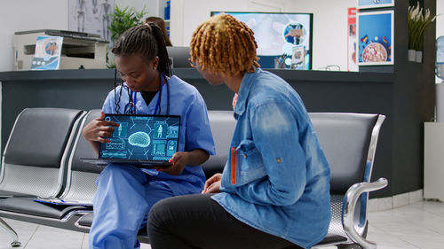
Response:
[[[309,113],[331,170],[330,192],[345,194],[363,182],[377,114]]]

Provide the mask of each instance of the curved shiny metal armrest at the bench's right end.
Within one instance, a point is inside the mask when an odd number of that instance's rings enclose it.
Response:
[[[388,181],[385,178],[379,178],[373,183],[355,183],[345,193],[343,203],[342,224],[344,226],[345,234],[350,237],[355,243],[362,246],[364,249],[377,248],[377,244],[362,237],[354,229],[353,214],[361,194],[363,192],[377,191],[384,189]]]

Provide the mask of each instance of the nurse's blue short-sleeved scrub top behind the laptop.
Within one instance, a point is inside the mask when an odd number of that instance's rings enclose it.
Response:
[[[161,97],[161,113],[180,115],[180,132],[178,142],[178,152],[189,152],[194,149],[201,149],[208,152],[210,155],[215,154],[214,141],[211,134],[210,121],[208,120],[207,106],[201,94],[194,86],[182,81],[177,76],[171,76],[167,84],[163,84]],[[122,86],[118,86],[115,90],[111,90],[105,103],[103,104],[104,113],[116,113],[115,111],[115,93],[117,99],[121,92]],[[119,103],[118,113],[129,113],[129,96],[126,87],[126,82],[123,83],[122,96]],[[168,109],[168,92],[170,91],[170,113]],[[136,93],[136,113],[138,114],[154,114],[155,106],[159,99],[160,91],[151,100],[150,104],[145,103],[144,98],[138,92]],[[189,191],[201,191],[205,183],[205,175],[202,167],[186,166],[181,175],[168,175],[163,172],[157,172],[154,169],[143,169],[148,175],[151,175],[151,180],[174,180],[176,183],[183,183],[186,185],[187,193]],[[178,187],[179,188],[179,187]],[[174,190],[180,193],[182,188]]]

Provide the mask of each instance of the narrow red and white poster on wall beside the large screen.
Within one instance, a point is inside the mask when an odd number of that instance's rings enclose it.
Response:
[[[347,15],[347,70],[358,72],[356,64],[356,8],[348,8]]]

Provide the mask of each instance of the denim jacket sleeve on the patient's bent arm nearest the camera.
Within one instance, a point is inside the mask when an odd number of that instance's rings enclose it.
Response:
[[[305,152],[299,144],[297,114],[288,105],[268,103],[250,110],[253,141],[266,169],[266,177],[236,188],[247,201],[289,206],[305,189]]]

